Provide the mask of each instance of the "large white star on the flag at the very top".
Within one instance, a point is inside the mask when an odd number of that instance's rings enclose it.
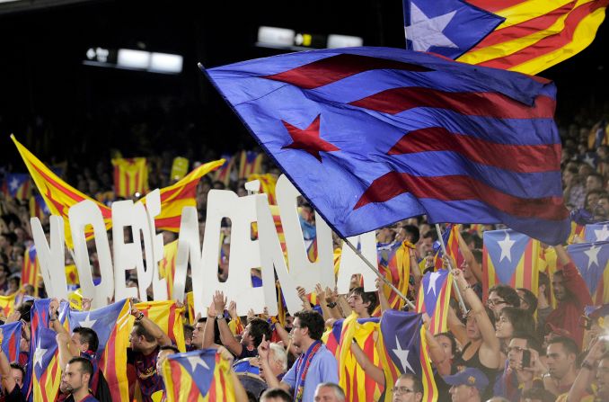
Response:
[[[412,42],[412,49],[417,51],[428,51],[432,46],[442,48],[457,48],[452,40],[446,38],[442,33],[455,16],[456,10],[437,17],[428,18],[417,4],[410,2],[410,25],[404,27],[406,39]]]

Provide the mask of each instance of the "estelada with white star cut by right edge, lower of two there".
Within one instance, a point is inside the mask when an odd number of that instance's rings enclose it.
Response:
[[[567,251],[578,267],[596,305],[609,303],[609,242],[570,245]]]

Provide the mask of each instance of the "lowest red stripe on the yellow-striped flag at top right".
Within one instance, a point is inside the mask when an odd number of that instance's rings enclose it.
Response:
[[[582,4],[569,13],[569,16],[565,19],[565,27],[562,31],[548,35],[543,38],[543,40],[539,40],[533,45],[518,50],[511,55],[507,55],[503,58],[494,58],[480,63],[479,66],[496,68],[514,67],[533,58],[539,58],[546,53],[560,49],[573,41],[573,34],[575,33],[579,22],[586,18],[588,14],[593,13],[599,8],[606,7],[607,4],[609,4],[609,0],[597,0],[595,2]]]

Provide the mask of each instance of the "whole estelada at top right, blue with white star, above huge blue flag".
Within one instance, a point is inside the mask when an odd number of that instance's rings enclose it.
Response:
[[[537,74],[594,40],[609,0],[403,0],[407,48]]]

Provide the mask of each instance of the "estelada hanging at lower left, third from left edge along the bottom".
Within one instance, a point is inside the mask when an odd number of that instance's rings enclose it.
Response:
[[[91,311],[69,311],[67,319],[70,329],[86,326],[97,334],[100,344],[96,358],[99,368],[108,382],[112,400],[128,402],[127,354],[130,306],[128,300],[120,300],[103,308]]]

